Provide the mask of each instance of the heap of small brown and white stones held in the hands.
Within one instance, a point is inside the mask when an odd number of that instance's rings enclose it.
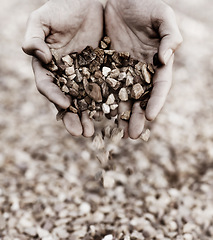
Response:
[[[57,120],[67,111],[81,114],[88,111],[90,118],[102,111],[109,115],[118,108],[120,102],[141,101],[146,109],[153,88],[152,63],[133,59],[128,52],[110,49],[111,40],[105,36],[99,46],[90,46],[80,53],[70,53],[58,58],[52,50],[52,61],[45,65],[61,91],[70,96],[70,107],[57,114]],[[125,115],[125,117],[124,117]],[[122,113],[123,120],[129,114]]]

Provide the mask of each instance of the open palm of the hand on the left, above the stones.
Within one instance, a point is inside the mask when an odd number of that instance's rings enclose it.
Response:
[[[103,13],[98,2],[50,1],[40,11],[43,25],[47,26],[46,43],[57,49],[59,55],[81,51],[87,45],[98,45],[103,29]]]

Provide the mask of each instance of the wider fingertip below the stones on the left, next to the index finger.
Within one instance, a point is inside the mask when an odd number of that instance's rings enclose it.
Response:
[[[67,131],[72,136],[80,136],[83,133],[83,128],[81,125],[80,118],[77,114],[67,112],[63,118],[63,123],[67,129]]]

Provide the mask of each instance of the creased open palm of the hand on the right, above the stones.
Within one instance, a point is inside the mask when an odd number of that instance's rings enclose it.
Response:
[[[131,5],[128,1],[122,3],[109,1],[107,4],[106,31],[112,40],[111,47],[117,51],[128,51],[141,61],[152,62],[158,50],[159,36],[153,29],[150,16],[147,16],[150,13],[143,8],[138,12],[139,6],[133,2]]]

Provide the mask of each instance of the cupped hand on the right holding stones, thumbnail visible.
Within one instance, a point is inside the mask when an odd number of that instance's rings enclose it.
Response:
[[[144,128],[145,117],[154,120],[163,107],[172,82],[174,52],[182,42],[174,12],[161,0],[109,0],[105,11],[106,33],[111,48],[130,52],[132,57],[153,62],[158,52],[162,66],[154,77],[154,87],[146,111],[140,102],[122,102],[118,113],[132,108],[129,123],[119,119],[125,137],[138,138]]]

